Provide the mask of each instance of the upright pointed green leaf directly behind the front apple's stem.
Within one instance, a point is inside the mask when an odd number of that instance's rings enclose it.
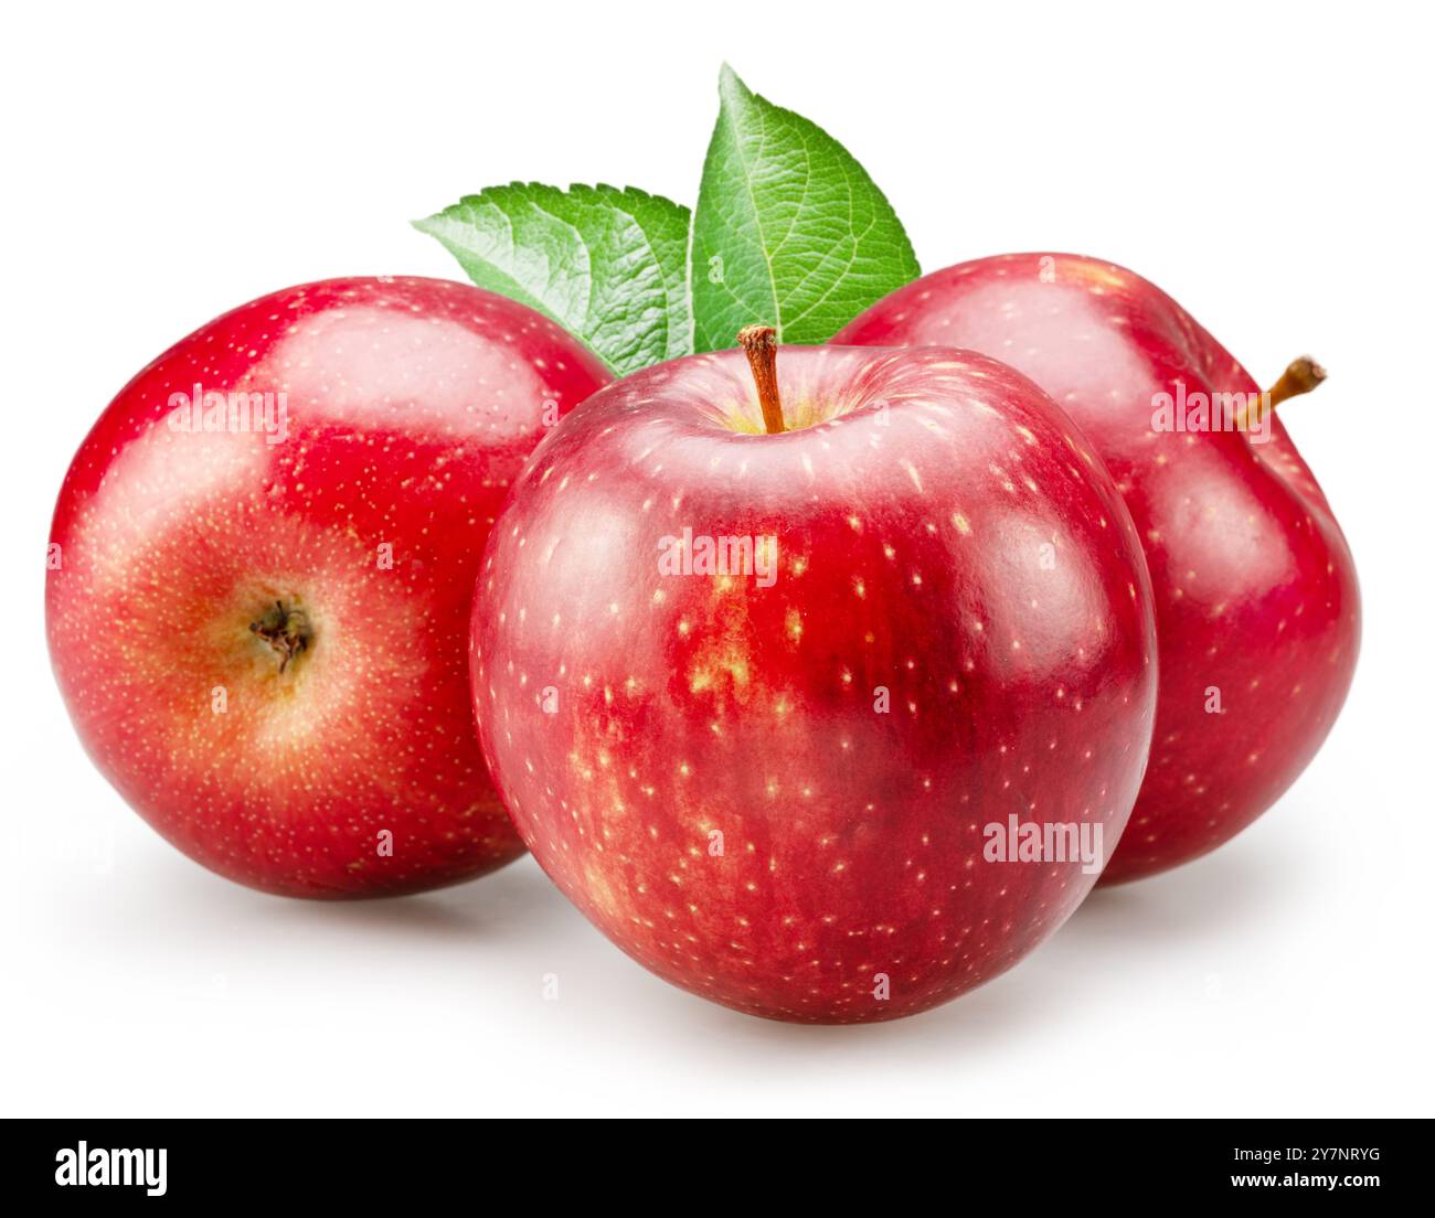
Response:
[[[726,65],[719,95],[693,217],[695,350],[730,347],[756,323],[784,343],[824,343],[921,274],[887,197],[841,143]]]

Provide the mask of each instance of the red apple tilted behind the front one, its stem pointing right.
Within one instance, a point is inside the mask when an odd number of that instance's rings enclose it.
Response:
[[[1256,393],[1250,373],[1154,284],[1069,254],[936,271],[832,341],[956,344],[1010,363],[1116,478],[1155,588],[1161,697],[1151,766],[1102,882],[1198,858],[1270,808],[1340,712],[1360,598],[1340,527],[1279,416],[1264,443],[1152,426],[1155,395],[1177,382],[1188,395]]]

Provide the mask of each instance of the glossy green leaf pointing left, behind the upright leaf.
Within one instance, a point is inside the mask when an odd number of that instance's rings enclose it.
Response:
[[[475,284],[548,314],[623,374],[692,353],[687,219],[631,187],[514,182],[413,227]]]

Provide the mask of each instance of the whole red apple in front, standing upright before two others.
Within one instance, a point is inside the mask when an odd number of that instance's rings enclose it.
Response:
[[[479,575],[479,729],[528,848],[637,961],[752,1014],[893,1019],[1015,964],[1093,884],[987,861],[983,829],[1114,844],[1149,587],[1109,475],[1009,367],[784,347],[778,377],[781,435],[740,351],[554,429]],[[684,528],[775,538],[773,578],[662,574]]]

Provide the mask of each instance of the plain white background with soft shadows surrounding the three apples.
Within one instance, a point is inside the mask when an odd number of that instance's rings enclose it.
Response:
[[[6,7],[6,1112],[1431,1113],[1428,10],[722,7]],[[46,657],[55,495],[146,360],[290,283],[462,278],[406,221],[484,185],[692,202],[723,59],[847,143],[924,268],[1098,254],[1257,379],[1332,373],[1283,410],[1365,594],[1325,750],[1218,854],[890,1024],[680,993],[527,859],[372,904],[218,879],[92,769]]]

